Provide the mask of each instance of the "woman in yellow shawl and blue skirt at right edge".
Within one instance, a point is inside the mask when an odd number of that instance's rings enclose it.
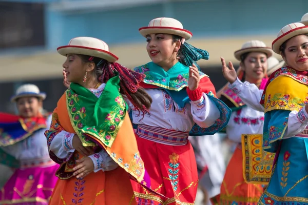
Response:
[[[307,192],[308,125],[308,26],[301,23],[283,27],[272,44],[286,67],[276,70],[263,93],[253,85],[236,81],[233,68],[224,75],[231,86],[265,112],[262,149],[276,153],[273,173],[260,204],[305,204]],[[247,100],[246,99],[246,100]],[[260,105],[255,102],[260,99]],[[248,100],[247,100],[248,101]]]

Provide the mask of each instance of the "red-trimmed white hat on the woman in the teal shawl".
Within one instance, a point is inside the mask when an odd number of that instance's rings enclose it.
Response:
[[[141,27],[139,32],[144,37],[153,33],[166,33],[178,35],[185,38],[185,40],[188,40],[192,36],[190,31],[183,29],[181,22],[179,22],[177,19],[167,17],[152,19],[149,25],[147,27]]]

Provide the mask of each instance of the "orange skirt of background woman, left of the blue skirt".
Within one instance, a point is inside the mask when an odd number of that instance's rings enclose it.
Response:
[[[263,188],[261,185],[246,183],[243,178],[243,154],[236,148],[221,185],[219,204],[257,204]]]

